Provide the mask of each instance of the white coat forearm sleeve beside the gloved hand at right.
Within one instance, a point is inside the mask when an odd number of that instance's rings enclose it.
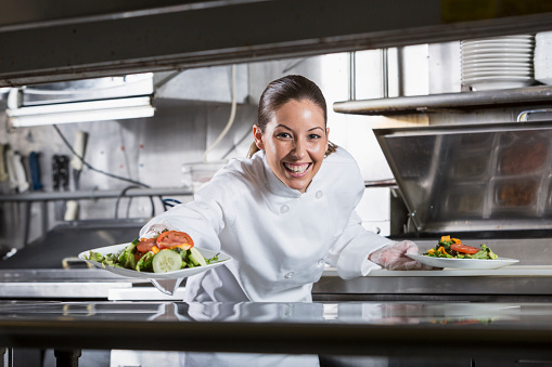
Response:
[[[354,211],[347,226],[330,249],[328,263],[337,268],[343,279],[365,276],[382,266],[368,260],[373,251],[391,244],[393,240],[380,236],[362,226],[362,220]]]

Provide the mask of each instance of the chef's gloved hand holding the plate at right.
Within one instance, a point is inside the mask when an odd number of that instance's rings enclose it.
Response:
[[[389,271],[428,271],[434,268],[407,257],[407,253],[416,254],[416,244],[403,240],[387,245],[372,252],[369,260]]]

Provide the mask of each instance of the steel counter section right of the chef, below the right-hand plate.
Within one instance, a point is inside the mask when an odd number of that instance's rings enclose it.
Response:
[[[552,266],[518,265],[502,270],[374,271],[344,280],[325,272],[314,284],[318,301],[542,301],[552,300]]]

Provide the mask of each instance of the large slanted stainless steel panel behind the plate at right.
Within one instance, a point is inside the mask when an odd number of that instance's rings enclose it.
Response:
[[[374,129],[415,233],[552,228],[552,121]]]

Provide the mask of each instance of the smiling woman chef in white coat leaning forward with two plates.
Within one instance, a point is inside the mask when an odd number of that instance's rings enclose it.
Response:
[[[364,230],[355,212],[364,182],[355,159],[329,142],[322,92],[301,76],[262,93],[248,158],[233,159],[195,199],[152,219],[140,236],[187,232],[198,248],[234,260],[188,278],[188,302],[310,302],[324,264],[342,278],[371,270],[427,268],[395,243]]]

